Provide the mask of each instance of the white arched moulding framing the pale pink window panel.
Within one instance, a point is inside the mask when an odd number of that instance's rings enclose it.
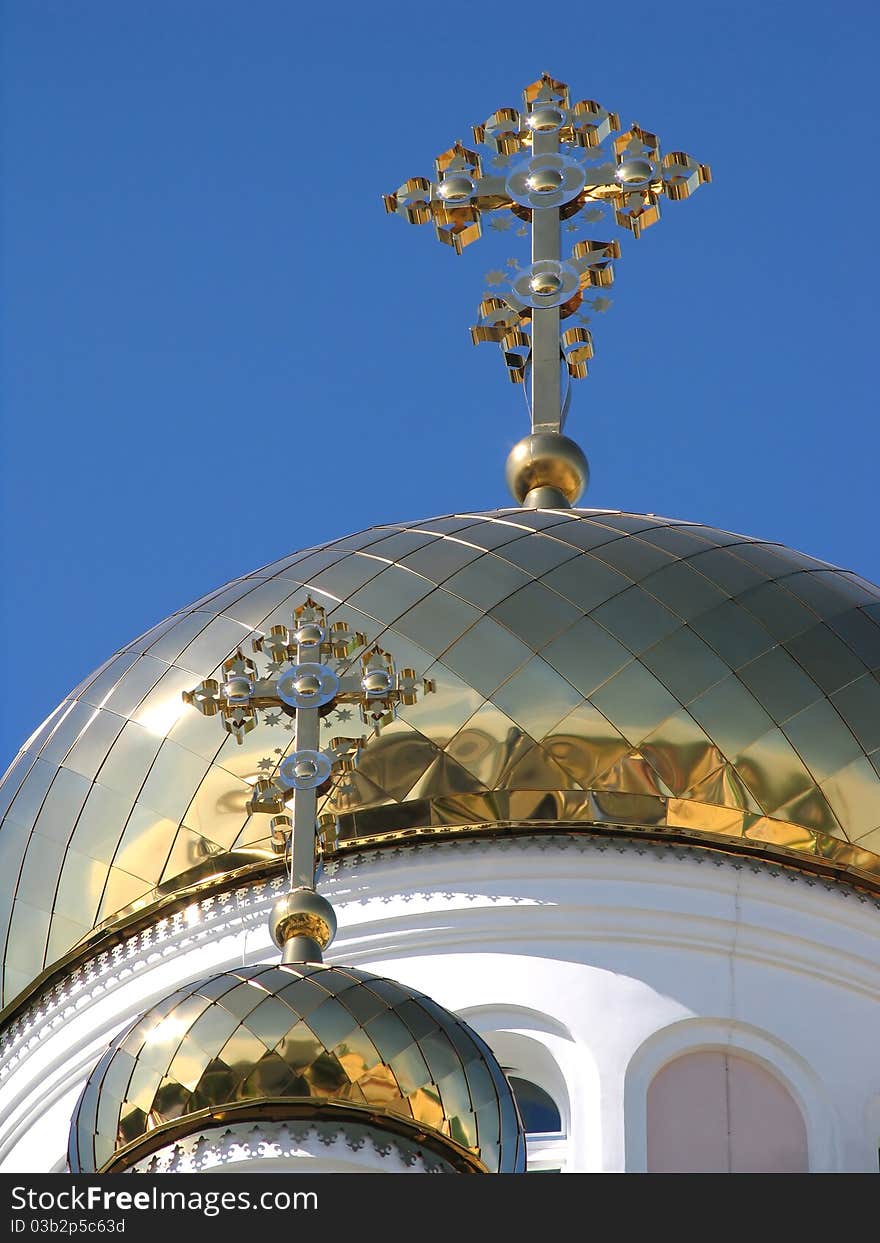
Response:
[[[792,1094],[807,1126],[810,1173],[840,1168],[836,1122],[815,1070],[789,1045],[736,1019],[686,1018],[660,1028],[635,1050],[624,1078],[624,1141],[626,1171],[648,1172],[648,1089],[654,1076],[686,1053],[721,1049],[751,1058]]]

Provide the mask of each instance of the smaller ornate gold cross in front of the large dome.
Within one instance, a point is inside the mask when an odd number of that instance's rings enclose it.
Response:
[[[293,721],[293,751],[281,759],[272,777],[260,777],[249,812],[272,813],[272,838],[282,850],[290,844],[291,889],[314,885],[317,798],[338,773],[351,772],[365,738],[333,738],[321,750],[321,721],[339,705],[357,705],[364,726],[379,731],[400,704],[415,704],[434,684],[418,679],[414,669],[396,671],[388,651],[378,645],[363,651],[357,667],[353,654],[365,649],[363,634],[346,622],[327,623],[324,609],[311,597],[293,610],[292,626],[273,625],[254,640],[254,651],[268,658],[266,674],[241,650],[222,665],[222,680],[205,679],[184,691],[205,716],[219,716],[236,742],[244,742],[259,723]],[[336,667],[328,661],[333,660]],[[273,767],[271,761],[264,766]]]

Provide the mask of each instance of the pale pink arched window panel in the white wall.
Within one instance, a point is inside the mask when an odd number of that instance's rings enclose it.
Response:
[[[701,1049],[666,1063],[648,1089],[650,1173],[804,1173],[807,1127],[759,1063]]]

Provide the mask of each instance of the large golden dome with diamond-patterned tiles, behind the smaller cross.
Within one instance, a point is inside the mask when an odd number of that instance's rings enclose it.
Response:
[[[880,589],[651,515],[454,515],[239,578],[68,696],[0,787],[6,1002],[99,926],[280,869],[245,803],[292,733],[237,746],[180,692],[308,594],[436,682],[324,800],[328,850],[566,827],[880,881]]]

